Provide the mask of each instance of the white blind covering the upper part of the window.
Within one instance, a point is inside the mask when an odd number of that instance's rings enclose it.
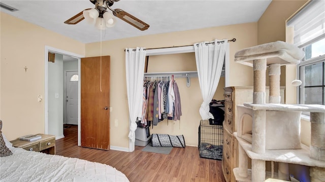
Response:
[[[313,0],[287,21],[294,28],[294,44],[300,48],[325,37],[325,1]]]

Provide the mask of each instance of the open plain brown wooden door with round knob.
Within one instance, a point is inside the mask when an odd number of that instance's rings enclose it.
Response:
[[[81,147],[110,149],[110,56],[81,59]]]

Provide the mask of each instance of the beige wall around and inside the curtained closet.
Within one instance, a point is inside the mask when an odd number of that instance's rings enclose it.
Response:
[[[205,29],[147,35],[143,37],[106,41],[102,43],[103,55],[111,56],[111,145],[128,147],[128,109],[125,86],[125,48],[145,47],[159,48],[171,46],[193,45],[197,42],[212,41],[214,39],[233,39],[230,43],[230,85],[252,85],[252,68],[234,62],[236,51],[255,46],[257,43],[257,24],[246,23]],[[86,44],[86,56],[100,55],[100,43]],[[149,68],[152,71],[175,71],[195,69],[194,54],[157,56],[156,59],[173,59],[174,63],[159,64],[154,62],[154,56],[149,57]],[[160,57],[160,58],[159,58]],[[186,62],[182,62],[182,60]],[[191,59],[191,60],[190,60]],[[173,66],[175,65],[175,67]],[[240,78],[240,79],[239,79]],[[220,82],[224,83],[224,78]],[[177,79],[180,87],[182,117],[181,121],[160,122],[151,133],[183,134],[186,144],[198,144],[198,127],[200,123],[199,107],[202,96],[197,79],[191,79],[190,88],[186,87],[185,79]],[[222,99],[223,88],[220,86],[216,99]],[[118,123],[117,126],[115,123]]]

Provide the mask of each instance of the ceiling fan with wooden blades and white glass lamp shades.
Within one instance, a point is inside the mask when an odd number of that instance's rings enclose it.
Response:
[[[117,18],[133,25],[134,27],[140,30],[146,30],[149,28],[149,25],[135,16],[126,13],[121,9],[112,9],[111,6],[114,2],[118,2],[120,0],[89,0],[92,4],[95,5],[94,9],[88,8],[75,16],[71,17],[67,21],[64,21],[66,24],[77,24],[83,19],[86,19],[87,22],[96,24],[96,26],[100,29],[105,29],[106,27],[112,27],[115,24],[115,18],[106,10],[109,9],[112,11],[113,15]],[[103,23],[102,20],[105,20]],[[103,23],[103,24],[102,24]],[[106,27],[105,27],[106,26]]]

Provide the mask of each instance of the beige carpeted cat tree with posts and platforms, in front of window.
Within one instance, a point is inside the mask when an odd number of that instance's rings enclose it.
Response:
[[[288,163],[310,166],[311,181],[324,180],[325,106],[280,104],[280,66],[298,64],[304,52],[277,41],[238,51],[235,61],[253,67],[253,103],[238,105],[239,167],[237,181],[288,180]],[[269,66],[270,96],[266,103],[266,69]],[[300,117],[310,112],[310,147],[300,143]],[[248,169],[248,157],[251,169]],[[278,162],[278,172],[266,172],[265,161]]]

